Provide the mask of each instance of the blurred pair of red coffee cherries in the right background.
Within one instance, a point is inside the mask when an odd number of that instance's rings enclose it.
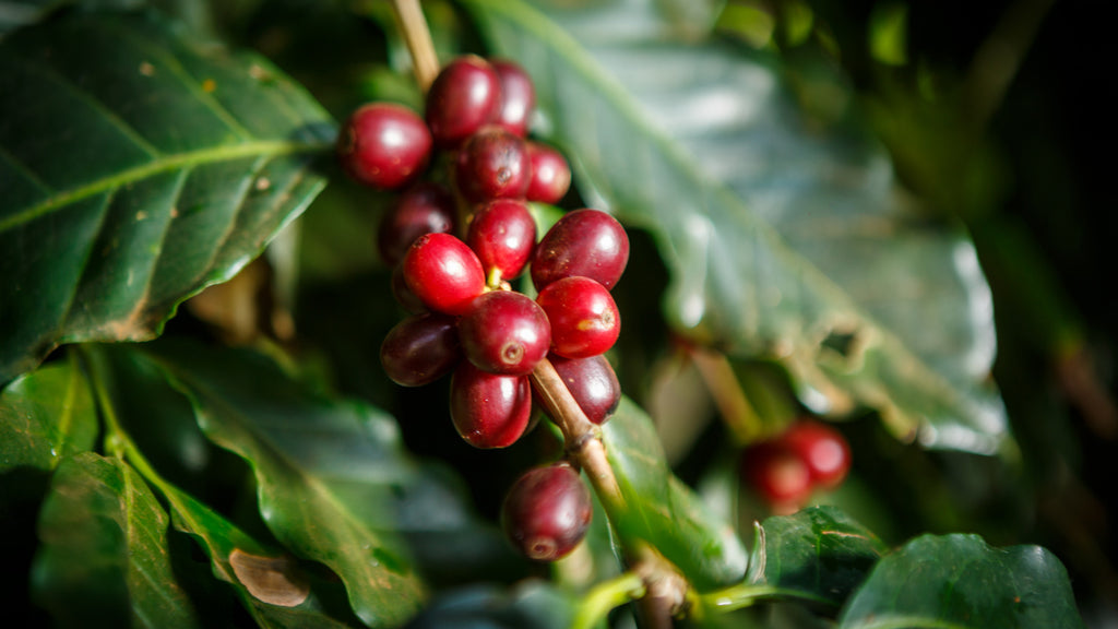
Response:
[[[803,507],[815,489],[834,489],[850,471],[846,438],[813,419],[799,419],[775,439],[750,445],[742,453],[747,482],[775,513]]]

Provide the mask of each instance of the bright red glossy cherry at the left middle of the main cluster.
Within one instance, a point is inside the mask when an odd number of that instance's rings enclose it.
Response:
[[[485,290],[482,263],[466,243],[451,234],[424,234],[401,262],[404,281],[427,308],[465,314]]]

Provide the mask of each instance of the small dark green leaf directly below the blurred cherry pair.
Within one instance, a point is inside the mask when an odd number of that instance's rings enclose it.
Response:
[[[750,572],[765,583],[839,607],[865,580],[888,547],[835,507],[812,507],[767,518],[759,527]]]

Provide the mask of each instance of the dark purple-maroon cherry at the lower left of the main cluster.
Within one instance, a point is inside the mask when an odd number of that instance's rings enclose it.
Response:
[[[397,323],[380,345],[380,364],[398,385],[421,386],[451,373],[462,359],[454,319],[425,313]]]

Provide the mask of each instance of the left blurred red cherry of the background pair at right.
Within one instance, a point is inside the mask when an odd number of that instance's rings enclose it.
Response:
[[[742,473],[774,511],[797,510],[812,495],[812,475],[795,452],[778,442],[761,442],[743,453]]]

